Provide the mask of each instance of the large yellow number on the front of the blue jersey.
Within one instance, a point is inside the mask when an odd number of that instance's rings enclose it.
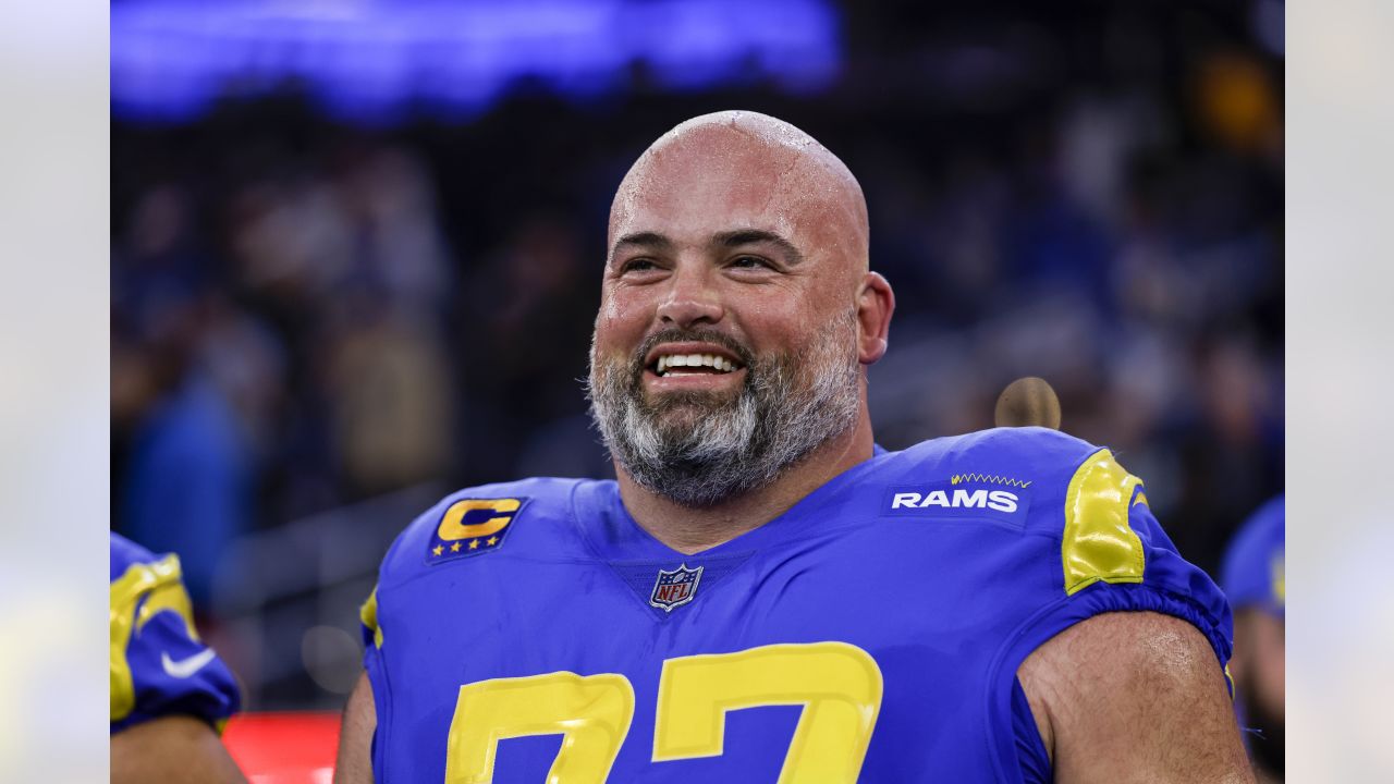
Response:
[[[664,663],[654,762],[719,756],[726,711],[802,704],[779,784],[856,781],[881,710],[881,668],[846,643],[771,644]],[[604,784],[634,717],[623,675],[548,672],[460,686],[446,784],[493,780],[499,741],[562,735],[546,784]]]

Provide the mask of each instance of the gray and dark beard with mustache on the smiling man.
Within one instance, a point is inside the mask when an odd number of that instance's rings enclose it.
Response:
[[[644,357],[658,343],[700,340],[746,367],[737,395],[676,392],[644,399]],[[588,396],[611,455],[641,487],[675,504],[707,508],[768,487],[814,449],[850,430],[861,410],[856,314],[820,331],[799,356],[760,360],[732,339],[668,329],[629,365],[599,361],[591,343]]]

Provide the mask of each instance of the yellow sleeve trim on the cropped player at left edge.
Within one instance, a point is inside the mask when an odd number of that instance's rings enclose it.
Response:
[[[142,596],[145,603],[141,603]],[[170,554],[155,564],[131,564],[112,582],[112,721],[125,718],[135,709],[135,682],[125,658],[131,633],[138,633],[164,610],[178,614],[188,636],[198,640],[194,608],[180,582],[178,557]]]

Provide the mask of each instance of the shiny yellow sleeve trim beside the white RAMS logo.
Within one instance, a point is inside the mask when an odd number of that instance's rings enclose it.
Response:
[[[1142,480],[1124,470],[1108,449],[1094,452],[1075,472],[1065,492],[1061,543],[1066,594],[1100,580],[1142,582],[1142,540],[1128,526],[1129,508],[1147,502],[1142,492],[1133,499],[1133,490],[1140,485]]]

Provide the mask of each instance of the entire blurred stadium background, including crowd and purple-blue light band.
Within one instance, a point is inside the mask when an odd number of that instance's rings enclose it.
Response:
[[[112,519],[180,552],[252,710],[343,703],[441,494],[611,472],[609,198],[703,112],[861,181],[882,445],[1041,375],[1211,571],[1282,487],[1281,1],[183,6],[112,6]]]

